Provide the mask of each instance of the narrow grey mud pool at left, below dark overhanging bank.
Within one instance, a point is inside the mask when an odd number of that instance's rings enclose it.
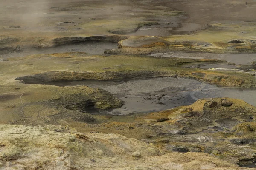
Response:
[[[61,45],[53,48],[30,48],[23,49],[21,52],[13,52],[10,54],[1,54],[0,59],[10,57],[25,57],[35,54],[52,54],[52,53],[65,53],[65,52],[86,52],[88,54],[104,54],[105,49],[117,48],[116,43],[111,42],[87,42],[76,43],[70,45]]]

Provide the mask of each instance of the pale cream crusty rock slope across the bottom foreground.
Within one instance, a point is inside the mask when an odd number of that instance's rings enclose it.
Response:
[[[61,126],[0,125],[0,139],[0,170],[244,169],[204,153],[159,156],[153,144],[137,139]]]

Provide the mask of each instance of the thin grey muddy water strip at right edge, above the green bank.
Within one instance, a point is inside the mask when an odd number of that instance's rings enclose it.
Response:
[[[201,52],[170,52],[151,54],[155,57],[179,57],[179,58],[194,58],[194,59],[220,59],[235,64],[249,64],[256,61],[256,54],[215,54],[215,53],[201,53]]]

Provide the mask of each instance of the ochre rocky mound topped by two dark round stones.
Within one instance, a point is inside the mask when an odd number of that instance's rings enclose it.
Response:
[[[192,105],[151,113],[145,117],[155,119],[156,122],[158,119],[168,118],[169,121],[165,123],[172,126],[173,130],[180,133],[198,133],[204,129],[209,132],[228,131],[236,124],[252,121],[250,118],[254,116],[256,108],[242,100],[212,98],[199,99]]]

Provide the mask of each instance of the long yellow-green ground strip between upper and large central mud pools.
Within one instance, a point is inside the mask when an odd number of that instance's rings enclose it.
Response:
[[[207,64],[223,62],[214,59],[63,53],[10,58],[8,61],[0,64],[0,69],[5,75],[9,75],[8,77],[2,76],[3,82],[6,82],[10,77],[23,80],[25,83],[40,84],[47,81],[62,80],[110,80],[116,78],[176,75],[196,78],[222,86],[256,87],[255,77],[246,72],[185,68],[185,65],[189,63]],[[8,81],[11,80],[9,79]]]

